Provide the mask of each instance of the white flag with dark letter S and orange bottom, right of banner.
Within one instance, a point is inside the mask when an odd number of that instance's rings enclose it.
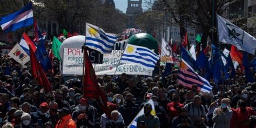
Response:
[[[172,48],[167,44],[164,38],[162,38],[161,44],[161,62],[173,63]]]

